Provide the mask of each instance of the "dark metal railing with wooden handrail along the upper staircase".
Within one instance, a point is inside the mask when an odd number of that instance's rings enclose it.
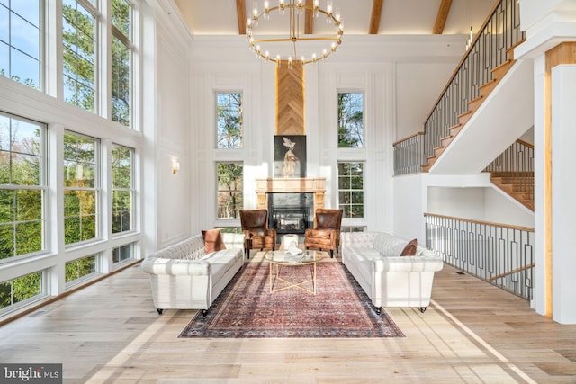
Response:
[[[424,131],[394,143],[395,175],[421,172],[442,138],[450,136],[450,127],[468,112],[468,103],[480,96],[480,87],[493,79],[492,70],[508,61],[510,49],[525,38],[518,1],[499,0],[428,114]]]

